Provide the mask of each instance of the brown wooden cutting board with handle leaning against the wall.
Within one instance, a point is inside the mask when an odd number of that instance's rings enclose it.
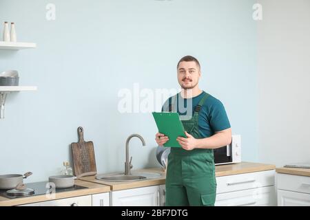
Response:
[[[74,175],[77,179],[84,176],[96,175],[96,160],[94,156],[93,142],[84,141],[83,128],[78,128],[79,142],[72,143],[72,157],[74,164]]]

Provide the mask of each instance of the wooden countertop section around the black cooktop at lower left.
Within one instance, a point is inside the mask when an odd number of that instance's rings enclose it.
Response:
[[[67,192],[56,192],[55,197],[49,199],[45,195],[36,195],[31,197],[21,197],[17,199],[8,199],[6,197],[0,197],[0,206],[18,206],[26,203],[35,203],[40,201],[48,201],[54,199],[64,199],[69,197],[79,197],[83,195],[92,195],[103,192],[110,192],[110,186],[105,186],[102,184],[95,184],[89,181],[76,180],[75,184],[78,186],[85,186],[80,190],[72,190]]]

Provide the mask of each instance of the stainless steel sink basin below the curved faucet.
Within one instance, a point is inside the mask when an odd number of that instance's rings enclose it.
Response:
[[[132,172],[132,175],[125,175],[124,173],[115,173],[110,175],[97,175],[96,179],[103,181],[140,181],[145,179],[155,179],[161,177],[159,173],[142,173]]]

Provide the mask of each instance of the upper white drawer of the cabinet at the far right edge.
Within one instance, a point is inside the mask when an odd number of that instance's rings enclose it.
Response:
[[[310,194],[310,177],[277,173],[277,188]]]

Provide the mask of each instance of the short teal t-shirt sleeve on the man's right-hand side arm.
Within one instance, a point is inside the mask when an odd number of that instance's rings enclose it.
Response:
[[[214,132],[223,131],[231,127],[225,107],[220,100],[215,100],[211,104],[209,117],[210,126]]]

